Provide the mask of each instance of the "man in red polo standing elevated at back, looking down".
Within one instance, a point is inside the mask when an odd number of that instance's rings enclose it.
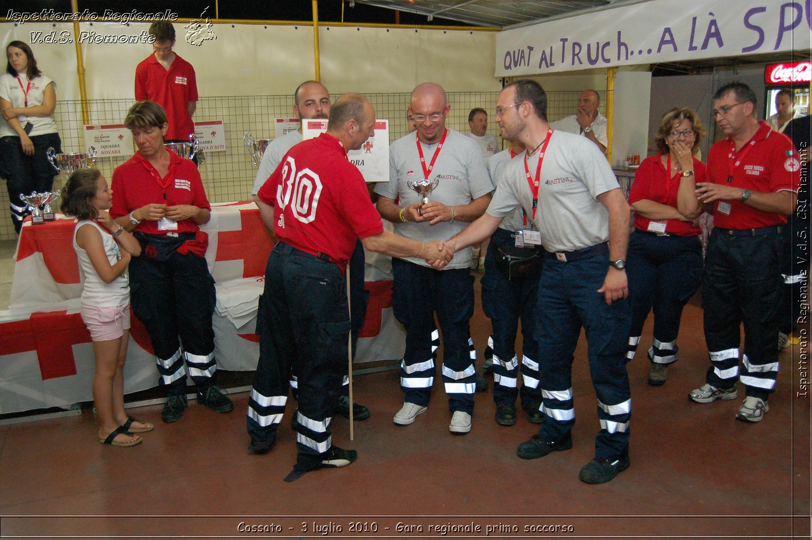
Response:
[[[136,67],[136,100],[156,102],[166,110],[169,129],[164,142],[188,142],[195,132],[192,114],[197,108],[195,68],[172,50],[175,28],[158,22],[149,26],[155,37],[153,54]],[[192,158],[197,165],[197,157]]]

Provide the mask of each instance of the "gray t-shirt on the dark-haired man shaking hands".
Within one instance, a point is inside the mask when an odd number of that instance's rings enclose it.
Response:
[[[535,178],[538,153],[530,156]],[[620,189],[603,153],[591,140],[555,131],[547,146],[538,188],[535,228],[547,251],[575,251],[609,240],[609,212],[598,195]],[[488,214],[504,218],[517,206],[533,214],[533,194],[525,175],[525,159],[513,159],[499,179]]]

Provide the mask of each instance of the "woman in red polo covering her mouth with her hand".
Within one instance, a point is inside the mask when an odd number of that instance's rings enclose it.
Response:
[[[626,274],[632,304],[628,360],[634,357],[643,323],[654,309],[649,348],[649,384],[665,383],[667,366],[679,358],[676,335],[682,309],[702,279],[702,213],[694,189],[705,181],[705,165],[693,157],[705,131],[690,109],[663,115],[655,143],[659,152],[646,158],[634,175],[628,203],[634,211]]]

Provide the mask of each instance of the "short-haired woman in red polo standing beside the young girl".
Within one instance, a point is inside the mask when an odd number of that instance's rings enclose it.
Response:
[[[124,120],[138,151],[113,172],[116,222],[134,231],[142,252],[130,263],[132,310],[149,332],[159,383],[168,400],[161,417],[180,420],[186,404],[186,369],[197,384],[197,401],[217,413],[234,408],[213,386],[214,279],[200,226],[211,206],[201,175],[190,160],[166,149],[166,112],[158,103],[137,102]],[[183,343],[183,351],[180,344]]]

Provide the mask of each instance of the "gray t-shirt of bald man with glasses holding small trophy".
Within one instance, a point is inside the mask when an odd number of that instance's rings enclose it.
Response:
[[[421,143],[425,166],[431,163],[437,144]],[[460,132],[449,129],[443,149],[434,162],[430,180],[439,179],[437,188],[429,195],[429,201],[442,202],[449,206],[468,205],[473,199],[490,193],[494,186],[482,159],[477,143]],[[407,182],[419,182],[424,177],[420,154],[417,153],[417,133],[409,133],[395,140],[389,147],[389,182],[378,184],[375,192],[383,197],[398,199],[401,208],[419,203],[421,197],[408,187]],[[405,238],[427,242],[429,240],[447,240],[468,226],[466,222],[439,222],[429,225],[428,222],[395,223],[395,233]],[[423,259],[407,258],[421,266],[429,266]],[[446,268],[467,268],[471,263],[471,249],[456,253]]]

